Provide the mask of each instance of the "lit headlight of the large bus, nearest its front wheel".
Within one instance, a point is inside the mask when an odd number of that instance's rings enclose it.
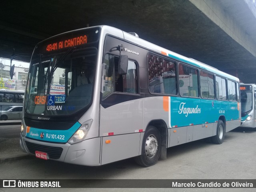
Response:
[[[69,144],[75,144],[81,142],[85,139],[88,131],[90,130],[90,126],[92,125],[92,119],[84,122],[82,126],[75,132],[75,134],[68,140]]]

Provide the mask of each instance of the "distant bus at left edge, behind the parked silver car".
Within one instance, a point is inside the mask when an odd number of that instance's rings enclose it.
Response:
[[[24,90],[8,90],[0,89],[0,105],[1,106],[22,106],[24,100]]]

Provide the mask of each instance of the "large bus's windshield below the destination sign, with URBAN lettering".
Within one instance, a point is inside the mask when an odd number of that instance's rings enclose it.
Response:
[[[73,114],[92,100],[96,48],[32,56],[24,108],[29,114]]]

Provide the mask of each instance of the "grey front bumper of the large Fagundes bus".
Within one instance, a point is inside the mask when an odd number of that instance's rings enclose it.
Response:
[[[51,151],[54,158],[50,154],[48,159],[56,160],[71,164],[79,164],[85,166],[99,166],[100,165],[100,137],[84,140],[76,144],[60,144],[42,142],[27,138],[20,134],[20,146],[24,152],[35,155],[35,151],[46,152]],[[60,152],[62,149],[62,152]],[[56,152],[55,152],[56,150]],[[59,153],[59,156],[56,154]],[[53,156],[52,156],[53,157]]]

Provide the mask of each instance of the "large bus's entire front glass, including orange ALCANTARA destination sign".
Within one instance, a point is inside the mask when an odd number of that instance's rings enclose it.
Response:
[[[75,30],[36,46],[25,95],[27,114],[71,115],[90,106],[99,30]]]

